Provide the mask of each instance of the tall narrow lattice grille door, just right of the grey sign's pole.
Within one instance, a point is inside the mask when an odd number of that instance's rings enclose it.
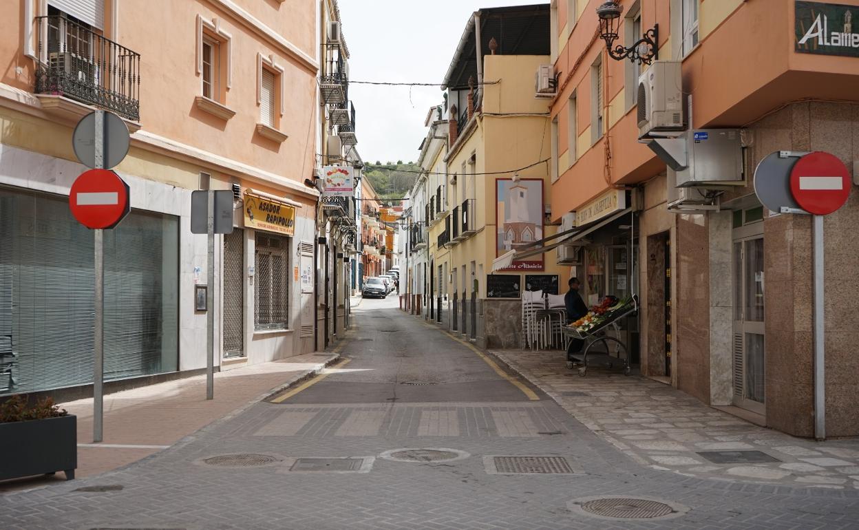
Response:
[[[223,236],[223,354],[244,355],[245,232]]]

